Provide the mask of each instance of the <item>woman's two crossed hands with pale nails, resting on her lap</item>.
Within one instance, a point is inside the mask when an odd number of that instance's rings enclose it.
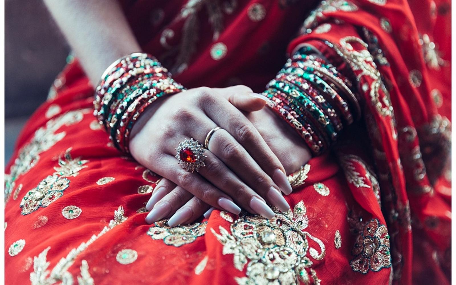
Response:
[[[135,124],[131,155],[163,177],[146,208],[147,223],[192,223],[209,209],[234,214],[241,207],[265,218],[290,206],[282,196],[292,192],[286,173],[299,169],[311,154],[302,139],[269,108],[266,99],[246,86],[194,88],[156,102]],[[178,165],[176,147],[212,135],[205,166],[187,172]]]

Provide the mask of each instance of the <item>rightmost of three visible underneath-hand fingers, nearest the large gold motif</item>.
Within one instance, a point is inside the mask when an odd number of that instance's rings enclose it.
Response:
[[[193,223],[195,220],[200,218],[204,212],[207,211],[211,206],[202,202],[197,197],[192,197],[184,206],[176,211],[174,215],[168,220],[170,227],[176,227],[181,224]]]

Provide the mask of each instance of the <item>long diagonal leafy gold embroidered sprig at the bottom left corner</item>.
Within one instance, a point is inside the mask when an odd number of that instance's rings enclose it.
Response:
[[[67,256],[60,259],[60,261],[50,272],[47,270],[50,264],[47,261],[47,252],[49,249],[51,249],[51,247],[49,246],[44,249],[40,254],[38,254],[38,256],[35,256],[33,259],[33,272],[30,273],[31,285],[54,284],[63,280],[73,280],[73,276],[70,272],[68,272],[68,269],[71,265],[73,265],[78,255],[86,250],[90,244],[92,244],[102,235],[109,232],[115,226],[125,222],[126,220],[127,217],[124,216],[124,208],[122,206],[119,206],[119,208],[114,211],[114,219],[110,220],[109,224],[105,226],[101,232],[96,235],[94,234],[87,242],[83,242],[77,248],[70,250]],[[84,270],[81,268],[81,276],[87,277],[88,275],[88,266],[84,266]]]

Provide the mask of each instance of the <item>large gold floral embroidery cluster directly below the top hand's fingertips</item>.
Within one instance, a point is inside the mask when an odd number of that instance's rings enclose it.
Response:
[[[231,233],[222,226],[220,233],[211,228],[223,244],[223,254],[233,254],[234,267],[243,271],[247,264],[247,276],[235,280],[238,284],[319,284],[307,253],[322,260],[326,250],[319,238],[305,231],[308,218],[304,203],[297,203],[293,211],[273,210],[275,217],[271,220],[241,212],[230,225]],[[309,239],[320,251],[311,246]]]

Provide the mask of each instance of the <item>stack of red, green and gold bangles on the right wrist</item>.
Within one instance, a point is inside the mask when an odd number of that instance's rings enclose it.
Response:
[[[352,83],[320,57],[296,52],[263,92],[271,107],[319,155],[336,140],[343,126],[361,116]]]

